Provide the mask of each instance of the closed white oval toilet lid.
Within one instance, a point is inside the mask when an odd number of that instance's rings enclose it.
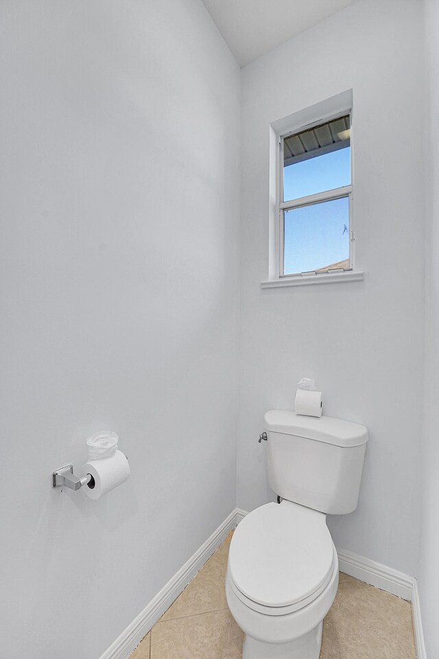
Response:
[[[235,586],[264,606],[288,606],[322,590],[333,570],[326,516],[289,501],[268,503],[238,525],[228,554]]]

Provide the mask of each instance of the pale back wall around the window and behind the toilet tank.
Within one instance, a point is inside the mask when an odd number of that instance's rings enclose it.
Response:
[[[339,548],[416,574],[423,393],[422,21],[416,0],[357,1],[242,70],[238,505],[274,497],[263,414],[316,378],[324,412],[370,430]],[[261,290],[270,122],[353,89],[357,268],[364,282]]]

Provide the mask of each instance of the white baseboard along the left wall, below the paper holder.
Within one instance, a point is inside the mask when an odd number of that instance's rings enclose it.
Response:
[[[100,659],[128,659],[128,656],[139,645],[143,636],[163,616],[169,606],[177,599],[180,592],[185,590],[189,581],[200,571],[215,549],[224,542],[228,533],[232,529],[235,529],[238,516],[238,511],[235,508],[217,530],[212,533],[211,537],[195,551],[189,561],[178,570],[178,573],[156,594],[156,597],[145,606],[137,618],[134,618],[132,623],[118,636],[115,642],[106,649]]]

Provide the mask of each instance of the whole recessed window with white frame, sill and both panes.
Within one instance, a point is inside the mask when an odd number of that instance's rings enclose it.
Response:
[[[355,268],[352,108],[346,89],[268,127],[268,279],[261,288],[364,279]]]

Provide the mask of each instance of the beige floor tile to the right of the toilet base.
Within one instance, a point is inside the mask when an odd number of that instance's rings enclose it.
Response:
[[[320,659],[416,659],[410,603],[341,574]]]

